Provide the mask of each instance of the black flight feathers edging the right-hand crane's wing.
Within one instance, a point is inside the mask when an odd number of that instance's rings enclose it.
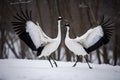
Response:
[[[90,53],[90,52],[98,49],[99,47],[107,44],[110,41],[110,38],[111,38],[112,32],[113,32],[113,26],[114,26],[113,23],[111,22],[111,19],[109,18],[109,19],[105,20],[105,18],[103,16],[99,25],[102,26],[104,36],[101,37],[100,40],[97,41],[94,45],[90,46],[89,48],[85,48],[87,53]]]

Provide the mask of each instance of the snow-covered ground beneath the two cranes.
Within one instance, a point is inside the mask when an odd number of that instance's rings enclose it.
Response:
[[[0,60],[0,80],[120,80],[120,66],[57,62],[51,68],[46,60]]]

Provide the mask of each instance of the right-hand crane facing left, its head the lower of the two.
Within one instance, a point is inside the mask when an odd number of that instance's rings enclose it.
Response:
[[[84,56],[89,68],[92,69],[88,63],[87,54],[109,42],[113,31],[113,24],[111,23],[110,19],[104,20],[103,17],[102,21],[97,27],[89,29],[84,35],[74,39],[69,37],[70,25],[66,24],[65,26],[67,27],[65,45],[70,51],[77,55],[77,61],[73,67],[76,66],[80,55],[82,55]]]

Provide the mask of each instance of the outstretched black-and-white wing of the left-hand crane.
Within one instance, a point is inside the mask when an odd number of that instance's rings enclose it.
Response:
[[[32,50],[41,52],[46,35],[41,31],[39,25],[33,23],[31,13],[32,11],[28,12],[27,9],[25,12],[21,10],[20,13],[16,13],[16,16],[14,16],[16,21],[12,22],[13,29]]]

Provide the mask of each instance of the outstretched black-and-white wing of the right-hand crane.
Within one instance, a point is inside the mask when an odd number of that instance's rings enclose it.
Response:
[[[78,37],[85,50],[89,53],[98,49],[103,44],[107,44],[112,36],[113,23],[111,19],[105,19],[104,16],[99,26],[89,29],[83,36]]]

